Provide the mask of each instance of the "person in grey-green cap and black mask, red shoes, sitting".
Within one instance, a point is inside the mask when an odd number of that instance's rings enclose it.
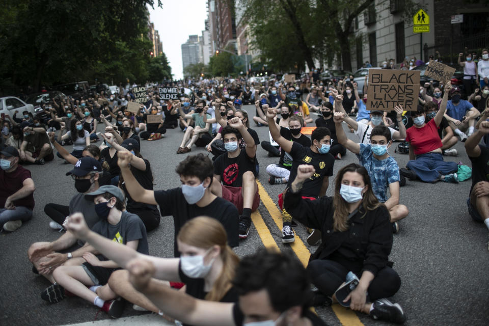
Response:
[[[95,212],[100,221],[92,231],[111,242],[124,244],[141,254],[149,253],[146,229],[137,215],[124,210],[124,194],[116,186],[105,185],[95,192],[85,195],[86,200],[95,203]],[[89,229],[83,213],[71,214],[69,220],[79,224],[83,221],[85,232]],[[75,222],[76,221],[76,222]],[[56,283],[50,285],[41,293],[41,298],[50,303],[58,303],[65,297],[65,290],[73,293],[107,312],[113,318],[118,318],[124,310],[124,302],[114,300],[117,295],[108,286],[111,274],[120,266],[103,255],[85,253],[82,265],[60,266],[52,276]]]

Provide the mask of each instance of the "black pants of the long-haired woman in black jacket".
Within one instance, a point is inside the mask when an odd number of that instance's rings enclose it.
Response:
[[[309,262],[307,272],[314,284],[323,294],[332,296],[346,279],[349,269],[342,264],[325,259],[316,259]],[[360,270],[352,270],[360,279]],[[377,275],[367,289],[367,302],[390,297],[396,294],[401,287],[401,279],[397,272],[386,266],[377,272]]]

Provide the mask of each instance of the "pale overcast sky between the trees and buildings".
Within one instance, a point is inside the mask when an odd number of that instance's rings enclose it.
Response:
[[[149,7],[150,20],[159,33],[174,78],[183,78],[182,48],[189,35],[202,36],[207,18],[205,0],[162,0],[163,8]]]

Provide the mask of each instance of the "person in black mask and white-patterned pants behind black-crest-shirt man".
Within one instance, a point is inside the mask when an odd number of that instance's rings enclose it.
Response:
[[[292,116],[288,120],[288,128],[280,127],[281,137],[292,142],[297,142],[304,147],[310,147],[311,140],[305,134],[301,133],[304,123],[303,119],[299,116]],[[292,156],[282,149],[279,164],[270,164],[266,167],[266,172],[270,175],[268,183],[287,183],[290,176],[290,168],[292,167],[292,160]]]

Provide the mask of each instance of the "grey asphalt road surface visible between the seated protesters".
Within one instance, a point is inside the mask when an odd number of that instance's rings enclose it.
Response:
[[[245,108],[250,116],[254,115],[253,106],[247,105]],[[268,140],[266,127],[256,127],[252,123],[252,128],[257,131],[260,141]],[[358,142],[356,135],[345,129],[348,137]],[[204,152],[203,148],[193,147],[188,154],[176,154],[182,137],[180,129],[173,129],[161,140],[142,142],[141,153],[151,162],[155,189],[178,187],[180,180],[175,173],[178,162],[186,155]],[[396,145],[394,143],[389,153],[403,167],[408,161],[408,155],[394,153]],[[470,166],[463,144],[458,143],[455,148],[459,156],[445,157],[445,160],[462,161]],[[276,202],[285,186],[268,184],[265,171],[266,166],[277,162],[278,158],[268,157],[261,147],[258,148],[257,158],[260,163],[258,179],[262,203],[253,215],[254,226],[249,238],[240,242],[236,253],[242,257],[266,245],[278,247],[282,251],[293,251],[301,261],[307,262],[309,252],[314,252],[316,247],[306,243],[304,226],[295,228],[297,237],[293,246],[281,242],[282,224]],[[358,162],[358,159],[349,152],[344,159],[336,160],[333,177],[341,167],[351,162]],[[30,222],[13,233],[0,234],[0,325],[43,326],[93,321],[98,308],[80,298],[69,297],[58,304],[48,304],[41,300],[40,292],[49,283],[32,273],[26,254],[32,242],[51,241],[60,236],[60,233],[49,228],[50,219],[44,214],[43,207],[46,203],[67,205],[76,193],[73,180],[65,176],[65,172],[72,169],[72,166],[56,158],[44,166],[32,165],[27,168],[31,170],[36,184],[36,207]],[[393,267],[402,280],[401,288],[392,301],[403,307],[408,317],[406,325],[488,323],[487,229],[482,224],[474,223],[467,212],[466,199],[470,182],[426,184],[408,181],[401,188],[401,203],[409,208],[410,213],[400,222],[400,232],[394,235],[394,246],[389,258],[394,262]],[[327,195],[333,194],[333,186],[334,182],[330,180]],[[162,218],[159,228],[148,234],[148,241],[152,255],[172,257],[172,218]],[[287,295],[287,284],[283,284],[283,289],[284,295]],[[385,324],[338,305],[317,308],[316,311],[329,325]],[[138,318],[146,317],[128,319],[128,316],[141,314],[127,305],[123,317],[116,322],[135,324]],[[100,312],[97,320],[101,319],[108,319],[108,316]],[[148,325],[144,320],[141,322]]]

